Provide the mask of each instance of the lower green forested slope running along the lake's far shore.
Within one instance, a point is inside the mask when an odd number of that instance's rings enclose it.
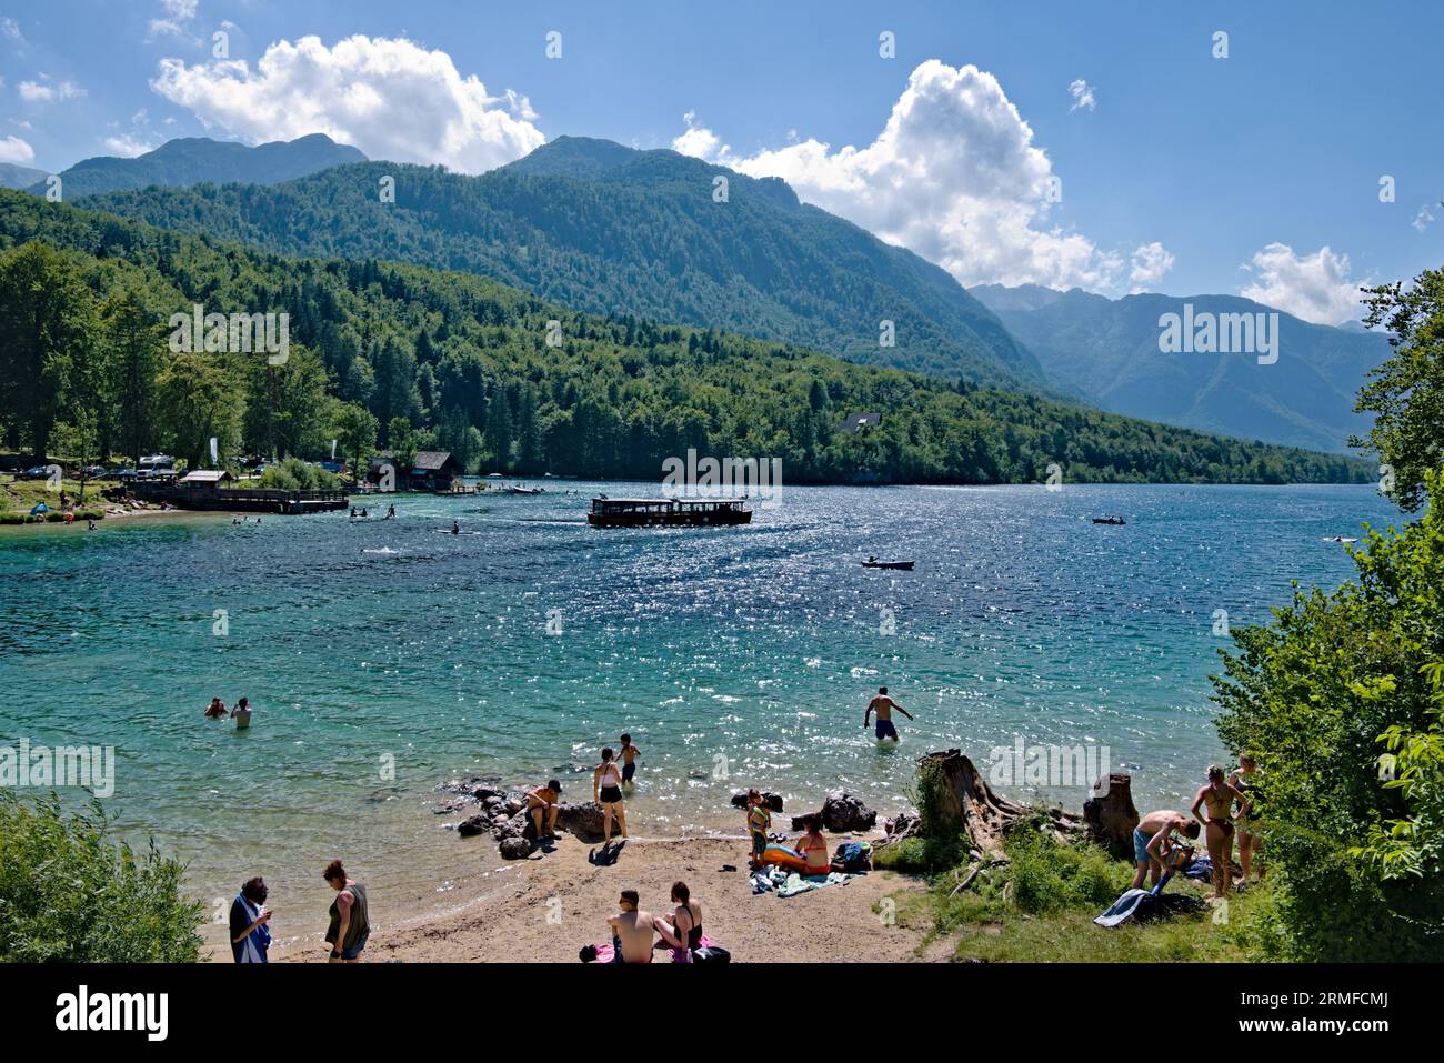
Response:
[[[58,248],[58,250],[52,250]],[[45,298],[38,299],[36,292]],[[283,365],[175,352],[172,313],[290,315]],[[552,339],[557,345],[549,342]],[[1168,429],[797,347],[596,318],[469,273],[290,259],[0,191],[0,425],[117,455],[318,456],[339,438],[468,468],[660,477],[781,456],[791,482],[1362,481],[1363,462]],[[851,433],[848,413],[879,428]]]

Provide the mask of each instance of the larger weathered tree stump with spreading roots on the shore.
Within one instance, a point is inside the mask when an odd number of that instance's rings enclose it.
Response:
[[[928,752],[918,760],[918,786],[926,823],[934,836],[965,833],[983,861],[1006,861],[1002,839],[1021,823],[1050,829],[1067,841],[1083,828],[1079,817],[1063,809],[1038,809],[1011,802],[983,778],[976,765],[957,750]]]

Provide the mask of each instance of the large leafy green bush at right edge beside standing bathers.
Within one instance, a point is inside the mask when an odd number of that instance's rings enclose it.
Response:
[[[1404,532],[1370,532],[1359,582],[1295,591],[1238,630],[1219,734],[1261,767],[1289,959],[1444,958],[1444,475]]]

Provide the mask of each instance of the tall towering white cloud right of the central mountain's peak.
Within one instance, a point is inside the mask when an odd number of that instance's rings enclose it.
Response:
[[[813,137],[739,155],[684,116],[673,147],[797,195],[928,259],[962,285],[1113,287],[1123,256],[1050,224],[1061,182],[998,79],[930,59],[913,71],[871,144]]]

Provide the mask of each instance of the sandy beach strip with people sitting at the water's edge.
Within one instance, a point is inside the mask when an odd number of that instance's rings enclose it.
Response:
[[[829,835],[829,841],[843,838]],[[888,924],[875,910],[900,890],[921,890],[918,880],[872,871],[797,897],[754,897],[742,838],[632,838],[611,867],[591,862],[599,848],[563,833],[553,852],[504,865],[478,895],[445,916],[388,926],[386,913],[374,910],[365,960],[575,963],[583,945],[606,940],[606,919],[617,913],[621,890],[637,890],[645,911],[667,914],[671,884],[679,878],[702,903],[708,936],[738,963],[921,958],[921,936]],[[723,865],[736,871],[723,871]],[[277,962],[323,958],[319,933],[271,949]]]

